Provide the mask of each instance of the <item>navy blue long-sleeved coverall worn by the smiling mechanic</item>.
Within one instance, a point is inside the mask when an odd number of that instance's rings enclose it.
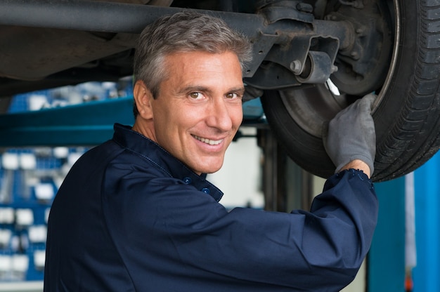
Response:
[[[48,221],[44,291],[339,291],[377,221],[361,171],[332,175],[311,211],[232,211],[155,142],[115,124],[72,167]]]

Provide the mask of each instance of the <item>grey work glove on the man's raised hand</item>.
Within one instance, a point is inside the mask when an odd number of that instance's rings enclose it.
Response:
[[[356,100],[323,127],[324,148],[336,166],[335,173],[350,161],[360,159],[373,175],[376,133],[371,110],[375,98],[368,94]]]

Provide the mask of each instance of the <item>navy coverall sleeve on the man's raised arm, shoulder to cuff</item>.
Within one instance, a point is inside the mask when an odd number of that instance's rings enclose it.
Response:
[[[354,279],[377,221],[373,185],[354,170],[327,180],[310,212],[228,212],[172,178],[117,184],[104,212],[134,278],[154,271],[212,284],[339,291]]]

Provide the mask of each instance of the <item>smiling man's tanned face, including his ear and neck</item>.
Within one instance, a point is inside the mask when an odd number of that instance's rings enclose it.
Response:
[[[164,147],[195,173],[214,173],[242,121],[244,86],[235,53],[168,55],[168,78],[153,99],[134,86],[139,110],[133,129]]]

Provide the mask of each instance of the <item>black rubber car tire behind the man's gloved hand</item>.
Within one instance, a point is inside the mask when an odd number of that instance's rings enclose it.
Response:
[[[439,150],[439,4],[439,0],[389,1],[394,45],[388,72],[375,88],[375,181],[410,173]],[[336,96],[328,84],[316,84],[265,91],[261,103],[269,126],[292,160],[327,178],[335,166],[323,147],[322,125],[357,98],[361,95]]]

